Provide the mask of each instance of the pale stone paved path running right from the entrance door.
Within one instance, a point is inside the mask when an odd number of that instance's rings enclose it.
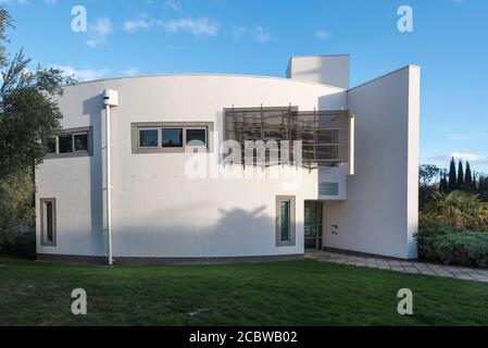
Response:
[[[488,270],[458,268],[452,265],[412,262],[392,259],[356,257],[330,251],[308,252],[305,258],[322,262],[354,265],[361,268],[389,270],[409,274],[423,274],[455,279],[488,283]]]

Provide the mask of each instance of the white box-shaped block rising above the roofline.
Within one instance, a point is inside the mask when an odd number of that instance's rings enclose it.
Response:
[[[349,88],[349,55],[292,57],[287,77]]]

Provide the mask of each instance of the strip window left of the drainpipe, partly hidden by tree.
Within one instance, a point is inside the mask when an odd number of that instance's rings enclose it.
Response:
[[[93,128],[62,129],[58,136],[50,137],[46,146],[48,149],[47,160],[92,156]]]

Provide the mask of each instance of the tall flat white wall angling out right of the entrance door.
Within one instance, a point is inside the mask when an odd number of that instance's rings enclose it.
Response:
[[[353,88],[348,102],[355,115],[355,175],[348,177],[346,201],[325,204],[324,245],[415,259],[420,69]]]

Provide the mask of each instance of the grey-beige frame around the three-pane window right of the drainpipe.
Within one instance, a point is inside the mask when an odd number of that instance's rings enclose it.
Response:
[[[214,123],[213,122],[136,122],[130,124],[133,154],[142,153],[184,153],[195,152],[196,149],[199,152],[213,152],[213,135]],[[141,148],[139,147],[139,129],[153,129],[158,128],[158,148]],[[182,128],[183,130],[183,146],[182,147],[163,147],[163,128]],[[187,129],[204,129],[205,130],[205,147],[188,146],[186,130]]]

